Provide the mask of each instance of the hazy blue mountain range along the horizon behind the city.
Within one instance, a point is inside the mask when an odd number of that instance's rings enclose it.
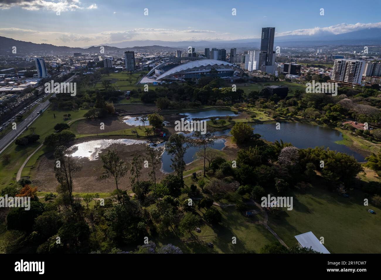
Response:
[[[320,33],[316,35],[286,35],[275,37],[274,46],[282,47],[320,47],[338,45],[379,45],[381,44],[381,28],[369,28],[342,34]],[[181,41],[170,42],[160,40],[126,41],[120,43],[104,43],[96,46],[83,48],[72,48],[68,46],[55,46],[51,44],[37,44],[14,40],[12,38],[0,37],[0,54],[12,54],[13,46],[17,48],[17,54],[72,54],[99,53],[99,46],[105,47],[105,52],[113,52],[122,55],[124,51],[158,52],[175,51],[186,49],[188,46],[203,51],[203,48],[259,48],[260,38],[249,38],[239,40],[212,40],[212,41]]]

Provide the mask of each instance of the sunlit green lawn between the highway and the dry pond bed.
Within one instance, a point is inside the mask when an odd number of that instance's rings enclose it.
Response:
[[[10,154],[10,163],[5,164],[3,161],[0,162],[0,189],[10,184],[13,179],[16,177],[16,174],[22,165],[24,161],[27,159],[28,155],[32,154],[32,152],[40,146],[45,137],[49,133],[54,132],[54,125],[57,123],[68,123],[70,120],[74,120],[76,118],[80,118],[85,114],[87,110],[78,110],[76,112],[73,111],[55,111],[51,109],[46,109],[40,117],[33,122],[33,124],[30,127],[35,127],[35,134],[40,135],[40,139],[38,142],[33,143],[32,145],[28,145],[27,147],[19,147],[14,142],[8,146],[8,148],[3,152],[3,154]],[[56,115],[56,118],[53,117],[53,114]],[[64,120],[63,115],[64,114],[71,114],[71,117],[69,120]],[[28,130],[24,131],[21,135],[27,135],[30,134]],[[42,148],[44,149],[44,148]],[[42,150],[41,150],[42,151]],[[34,166],[38,156],[40,156],[40,152],[38,151],[34,156],[30,158],[30,160],[27,162],[26,166]],[[30,168],[28,168],[30,169]],[[23,170],[24,171],[24,170]],[[29,176],[26,175],[29,174],[28,172],[23,172],[22,176]]]

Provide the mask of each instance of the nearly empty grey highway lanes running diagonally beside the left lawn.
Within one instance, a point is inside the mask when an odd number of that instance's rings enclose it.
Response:
[[[72,76],[67,79],[64,83],[70,82],[76,76]],[[56,87],[57,88],[57,87]],[[53,93],[51,97],[56,96],[56,93]],[[18,123],[16,130],[9,131],[2,139],[0,139],[0,154],[14,141],[17,137],[26,130],[40,115],[37,114],[40,110],[45,111],[50,105],[49,99],[43,103],[38,103],[37,107],[31,112],[21,123]],[[10,123],[12,125],[12,123]]]

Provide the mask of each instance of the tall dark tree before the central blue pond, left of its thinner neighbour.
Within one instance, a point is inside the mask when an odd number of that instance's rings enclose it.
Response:
[[[171,167],[177,172],[182,184],[185,168],[184,155],[189,147],[189,140],[183,134],[172,134],[165,144],[166,152],[171,155]]]

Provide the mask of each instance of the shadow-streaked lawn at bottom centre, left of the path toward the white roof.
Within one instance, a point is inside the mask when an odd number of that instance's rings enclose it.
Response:
[[[156,237],[153,238],[153,241],[158,247],[168,243],[179,246],[184,253],[242,253],[244,251],[259,253],[264,245],[276,241],[275,237],[261,224],[255,224],[256,221],[259,221],[257,217],[246,218],[234,206],[212,207],[220,211],[222,221],[218,225],[211,226],[202,220],[200,222],[201,232],[192,232],[195,239],[189,234],[178,237],[170,231],[168,237]],[[205,209],[197,211],[197,214],[201,216],[203,213],[205,213]],[[237,238],[236,244],[232,243],[233,237]],[[209,248],[208,242],[212,242],[214,248]]]

